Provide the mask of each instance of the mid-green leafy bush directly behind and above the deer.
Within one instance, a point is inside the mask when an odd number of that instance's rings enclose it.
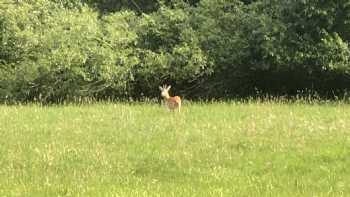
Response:
[[[137,49],[136,95],[156,95],[163,83],[175,87],[195,84],[212,72],[186,9],[163,7],[144,15],[138,27]]]

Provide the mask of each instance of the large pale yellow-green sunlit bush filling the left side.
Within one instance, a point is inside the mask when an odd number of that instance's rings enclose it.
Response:
[[[1,96],[9,100],[60,101],[125,95],[137,57],[128,12],[98,19],[88,7],[64,9],[40,0],[9,5],[1,13]],[[7,43],[10,43],[8,45]]]

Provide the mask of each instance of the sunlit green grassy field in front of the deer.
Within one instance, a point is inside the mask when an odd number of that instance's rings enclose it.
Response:
[[[0,106],[0,196],[349,196],[350,105]]]

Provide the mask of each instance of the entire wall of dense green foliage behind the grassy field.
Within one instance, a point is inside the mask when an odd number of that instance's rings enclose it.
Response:
[[[350,0],[3,0],[0,100],[338,96]]]

